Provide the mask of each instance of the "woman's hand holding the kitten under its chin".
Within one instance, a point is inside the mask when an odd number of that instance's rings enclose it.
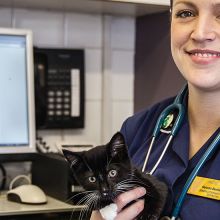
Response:
[[[139,199],[146,194],[146,190],[143,187],[132,189],[128,192],[120,194],[116,200],[117,212],[114,220],[132,220],[135,219],[144,208],[144,201],[138,200],[129,207],[123,209],[128,203]],[[122,210],[123,209],[123,210]],[[95,211],[92,213],[90,220],[103,220],[100,212]]]

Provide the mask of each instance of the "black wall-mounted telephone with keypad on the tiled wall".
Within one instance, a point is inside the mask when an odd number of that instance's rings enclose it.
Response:
[[[84,127],[84,51],[34,48],[36,126]]]

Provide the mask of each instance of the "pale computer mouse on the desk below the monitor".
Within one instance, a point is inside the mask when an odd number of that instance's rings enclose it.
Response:
[[[21,185],[7,192],[9,201],[24,203],[24,204],[45,204],[47,196],[41,188],[36,185],[27,184]]]

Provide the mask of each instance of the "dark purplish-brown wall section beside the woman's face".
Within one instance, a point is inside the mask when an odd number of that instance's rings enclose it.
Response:
[[[169,12],[137,19],[135,112],[174,96],[185,83],[171,57],[169,19]]]

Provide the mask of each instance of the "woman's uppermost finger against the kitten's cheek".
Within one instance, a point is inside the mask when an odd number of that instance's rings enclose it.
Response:
[[[138,187],[120,194],[115,200],[115,203],[117,204],[118,207],[117,211],[120,212],[121,209],[124,206],[126,206],[128,203],[144,196],[145,194],[146,194],[146,189],[143,187]]]

